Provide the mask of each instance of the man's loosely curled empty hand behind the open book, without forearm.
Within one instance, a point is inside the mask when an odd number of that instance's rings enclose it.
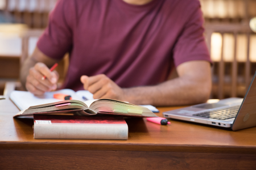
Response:
[[[84,89],[93,94],[94,99],[115,99],[125,101],[125,92],[105,74],[81,76]]]

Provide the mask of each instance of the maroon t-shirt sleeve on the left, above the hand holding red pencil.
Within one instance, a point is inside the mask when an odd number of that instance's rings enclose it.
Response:
[[[65,2],[66,1],[66,2]],[[49,23],[37,46],[46,56],[61,59],[72,47],[71,16],[68,13],[70,1],[60,0],[49,15]]]

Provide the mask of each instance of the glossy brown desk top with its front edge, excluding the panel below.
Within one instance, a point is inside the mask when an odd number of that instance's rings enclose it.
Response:
[[[162,112],[180,107],[159,107]],[[32,119],[16,118],[18,112],[8,99],[0,100],[0,149],[44,150],[122,150],[224,152],[256,154],[256,127],[239,131],[212,128],[183,121],[170,120],[164,126],[145,119],[128,118],[129,138],[119,140],[34,139]]]

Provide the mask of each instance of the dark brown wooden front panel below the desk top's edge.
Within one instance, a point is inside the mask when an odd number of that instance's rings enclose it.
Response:
[[[0,150],[0,155],[3,169],[255,169],[256,165],[256,155],[250,154]]]

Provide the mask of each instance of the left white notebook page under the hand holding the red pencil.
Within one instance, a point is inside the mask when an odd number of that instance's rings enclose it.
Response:
[[[27,109],[33,105],[53,103],[61,101],[59,99],[54,99],[53,94],[67,94],[71,95],[74,100],[81,100],[76,92],[71,89],[63,89],[58,91],[46,92],[43,96],[35,96],[28,91],[13,91],[10,94],[10,99],[14,104],[20,109],[20,111]]]

